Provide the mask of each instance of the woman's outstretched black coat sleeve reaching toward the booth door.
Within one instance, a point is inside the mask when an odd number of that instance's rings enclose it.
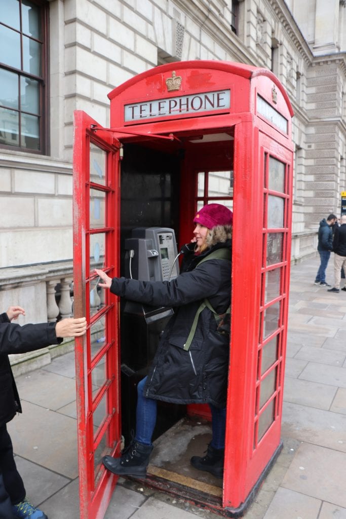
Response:
[[[148,305],[181,306],[216,295],[220,278],[220,261],[210,260],[172,281],[113,278],[110,291]]]

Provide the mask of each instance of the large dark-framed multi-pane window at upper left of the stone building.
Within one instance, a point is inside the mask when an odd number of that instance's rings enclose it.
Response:
[[[0,0],[0,146],[47,151],[48,3]]]

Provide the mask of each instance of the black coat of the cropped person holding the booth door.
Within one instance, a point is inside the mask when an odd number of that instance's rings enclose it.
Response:
[[[22,408],[8,358],[12,353],[26,353],[51,344],[59,344],[56,323],[10,323],[7,313],[0,315],[0,427],[9,422]]]

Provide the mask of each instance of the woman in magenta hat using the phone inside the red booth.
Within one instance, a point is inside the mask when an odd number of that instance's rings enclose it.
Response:
[[[204,206],[184,245],[181,273],[171,281],[110,278],[96,269],[105,289],[131,301],[174,307],[149,374],[137,386],[136,432],[120,458],[105,456],[119,475],[144,476],[153,444],[157,400],[209,404],[212,440],[191,465],[223,477],[229,363],[232,212],[218,203]]]

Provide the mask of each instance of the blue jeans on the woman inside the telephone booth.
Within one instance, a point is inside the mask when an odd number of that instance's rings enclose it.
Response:
[[[151,445],[156,416],[157,416],[157,400],[146,398],[143,396],[143,388],[147,377],[143,378],[137,386],[137,408],[136,408],[136,434],[135,440],[144,445]],[[212,412],[212,432],[213,438],[211,445],[215,449],[225,447],[226,433],[226,407],[218,408],[209,404]]]

